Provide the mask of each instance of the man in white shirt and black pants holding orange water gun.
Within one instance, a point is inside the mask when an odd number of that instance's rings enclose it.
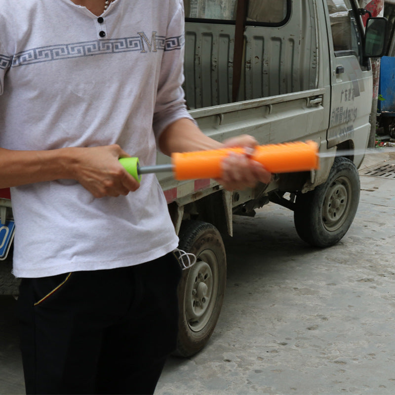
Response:
[[[205,136],[185,109],[182,0],[0,0],[0,188],[27,393],[152,394],[174,350],[178,239],[153,174],[119,164],[253,147]],[[244,156],[220,182],[270,174]]]

